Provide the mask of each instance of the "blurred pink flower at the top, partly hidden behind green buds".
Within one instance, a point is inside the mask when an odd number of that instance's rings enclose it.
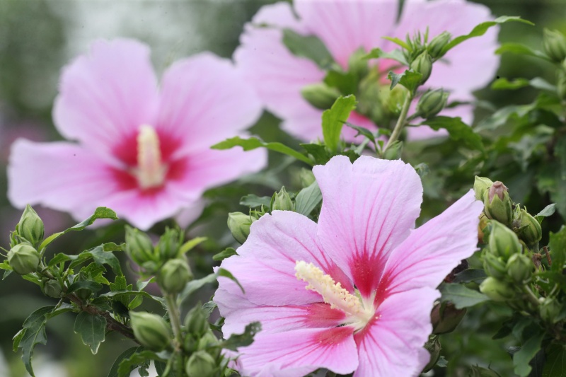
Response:
[[[305,141],[320,138],[322,110],[308,103],[301,90],[322,82],[326,72],[311,60],[291,54],[282,42],[282,29],[320,38],[335,62],[347,69],[348,60],[360,47],[366,52],[376,47],[386,52],[398,48],[383,36],[405,40],[407,34],[424,33],[427,28],[429,39],[443,31],[453,36],[465,35],[478,23],[492,20],[486,6],[464,0],[407,0],[396,22],[398,3],[397,0],[295,0],[292,8],[287,2],[263,6],[246,25],[241,47],[234,54],[236,65],[256,88],[267,110],[282,119],[283,129]],[[451,93],[450,100],[473,100],[472,91],[483,88],[495,75],[499,62],[494,54],[496,45],[495,28],[483,37],[458,45],[434,64],[425,87],[444,88]],[[394,64],[397,63],[388,59],[377,61],[380,74],[376,85],[381,93],[389,91],[386,77]],[[470,105],[444,110],[442,114],[461,116],[465,122],[472,120]],[[352,113],[350,122],[376,129],[369,117],[357,112]],[[435,135],[427,126],[408,131],[412,139]],[[355,134],[347,127],[344,132],[348,139]]]

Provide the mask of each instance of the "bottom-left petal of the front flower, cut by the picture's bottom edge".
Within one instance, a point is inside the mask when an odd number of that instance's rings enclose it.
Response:
[[[249,347],[238,349],[240,372],[243,376],[304,376],[326,368],[352,373],[358,366],[352,332],[350,326],[258,332]]]

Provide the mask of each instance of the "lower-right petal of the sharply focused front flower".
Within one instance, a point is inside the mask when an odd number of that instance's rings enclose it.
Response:
[[[354,377],[419,376],[428,362],[422,346],[432,332],[430,311],[439,296],[435,289],[421,288],[383,301],[374,323],[354,335],[359,352]]]

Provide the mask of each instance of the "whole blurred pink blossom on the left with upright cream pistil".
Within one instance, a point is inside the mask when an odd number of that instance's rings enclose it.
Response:
[[[146,45],[99,41],[64,69],[59,89],[54,123],[76,143],[13,144],[16,207],[38,203],[84,219],[105,206],[142,229],[185,209],[188,222],[204,190],[267,161],[265,151],[209,149],[261,111],[231,62],[212,54],[175,62],[158,87]]]

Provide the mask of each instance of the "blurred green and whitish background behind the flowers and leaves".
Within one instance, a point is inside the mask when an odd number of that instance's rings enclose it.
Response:
[[[51,110],[57,95],[57,81],[62,67],[88,49],[98,38],[134,37],[151,46],[152,59],[158,73],[182,57],[202,51],[212,51],[221,57],[231,57],[238,45],[243,24],[250,20],[260,6],[275,1],[254,0],[0,0],[0,190],[6,192],[5,168],[10,145],[14,139],[25,137],[35,141],[62,139],[52,123]],[[500,42],[521,42],[541,50],[543,27],[555,28],[566,33],[566,0],[479,0],[490,7],[495,16],[521,16],[536,23],[528,27],[520,23],[504,25],[499,33]],[[542,77],[555,82],[555,69],[550,64],[532,57],[504,54],[499,77],[514,79]],[[495,78],[494,78],[495,79]],[[531,103],[537,92],[533,88],[516,91],[493,91],[485,88],[476,93],[483,101],[476,112],[476,119],[489,115],[494,108],[509,104]],[[485,105],[489,104],[489,105]],[[220,110],[221,111],[221,110]],[[298,141],[284,134],[277,127],[279,120],[270,114],[264,116],[252,128],[266,141],[281,141],[296,146]],[[439,158],[453,153],[454,145],[441,140],[432,146],[413,143],[405,146],[408,161],[416,165],[426,161],[432,173],[424,178],[424,221],[446,208],[447,204],[473,185],[473,175],[458,176],[458,184],[444,182],[435,173]],[[511,166],[502,166],[501,176],[516,202],[527,204],[533,213],[550,202],[548,197],[531,190],[531,180],[506,181]],[[205,274],[213,265],[212,255],[233,243],[226,227],[229,211],[246,211],[238,204],[240,197],[248,193],[272,195],[281,185],[290,190],[299,188],[296,173],[301,166],[287,158],[270,154],[270,169],[243,178],[240,182],[207,192],[210,204],[201,218],[191,226],[193,236],[207,236],[209,240],[194,254],[195,272]],[[446,166],[444,166],[446,168]],[[506,170],[507,169],[507,173]],[[464,182],[464,180],[466,182]],[[38,185],[41,182],[37,182]],[[41,207],[35,208],[45,221],[46,235],[74,224],[67,215]],[[14,209],[5,195],[0,195],[0,234],[2,245],[8,245],[8,233],[13,230],[21,214]],[[562,214],[564,216],[564,214]],[[563,224],[558,214],[548,221],[551,231]],[[158,224],[153,232],[158,235],[166,224]],[[123,241],[123,223],[117,222],[94,231],[69,234],[59,238],[52,247],[65,253],[78,253],[104,238],[105,241]],[[127,262],[125,262],[127,264]],[[131,271],[131,268],[129,268]],[[129,276],[136,279],[135,272]],[[204,292],[208,299],[210,289]],[[0,284],[0,375],[25,376],[25,369],[18,354],[11,350],[11,338],[21,327],[27,315],[50,303],[33,284],[21,282],[15,276]],[[151,307],[148,308],[151,310]],[[157,308],[154,308],[157,310]],[[505,349],[513,344],[512,338],[497,342],[490,338],[497,331],[506,313],[503,307],[478,306],[468,311],[458,330],[442,338],[443,356],[449,360],[447,369],[434,371],[434,376],[466,376],[467,366],[478,364],[498,371],[502,376],[512,376],[510,357]],[[113,357],[130,347],[129,341],[110,335],[100,352],[91,355],[88,347],[81,344],[78,336],[69,336],[74,318],[62,315],[48,325],[47,347],[37,347],[35,370],[38,377],[47,376],[107,376]],[[127,343],[127,344],[126,344]],[[4,354],[2,357],[1,354]],[[1,362],[1,359],[5,359]]]

